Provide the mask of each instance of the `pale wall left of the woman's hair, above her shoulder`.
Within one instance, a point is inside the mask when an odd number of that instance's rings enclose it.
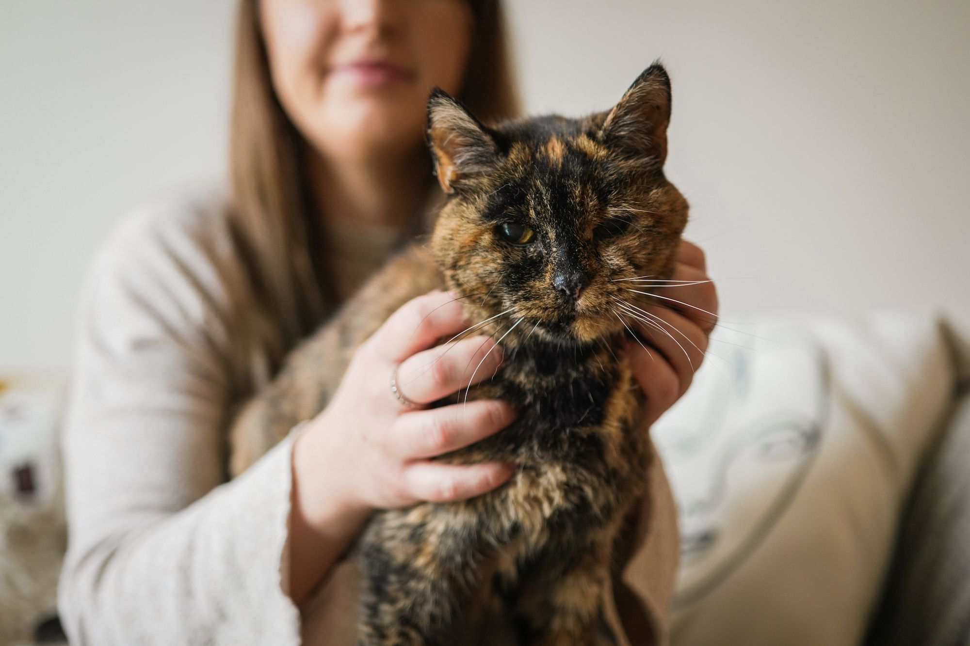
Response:
[[[70,364],[113,222],[223,167],[233,0],[0,0],[0,370]]]

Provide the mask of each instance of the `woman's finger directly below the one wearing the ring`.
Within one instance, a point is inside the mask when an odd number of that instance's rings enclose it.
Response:
[[[397,419],[388,434],[388,448],[403,458],[432,458],[491,436],[515,417],[515,409],[498,400],[416,411]]]

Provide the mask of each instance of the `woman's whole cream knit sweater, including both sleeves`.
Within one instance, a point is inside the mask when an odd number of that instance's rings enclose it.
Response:
[[[339,292],[375,269],[392,234],[368,233],[367,252],[356,253],[364,237],[329,232],[347,251]],[[70,535],[59,590],[77,646],[353,643],[351,562],[303,607],[287,595],[294,434],[225,481],[226,425],[269,377],[281,342],[233,241],[224,193],[195,190],[126,218],[87,276],[63,446]],[[663,473],[653,489],[652,522],[623,579],[663,634],[676,529]]]

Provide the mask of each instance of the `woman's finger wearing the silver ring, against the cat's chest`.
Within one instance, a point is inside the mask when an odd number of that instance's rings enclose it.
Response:
[[[501,348],[490,337],[472,337],[408,357],[398,368],[398,392],[416,404],[431,404],[482,379],[501,366]]]

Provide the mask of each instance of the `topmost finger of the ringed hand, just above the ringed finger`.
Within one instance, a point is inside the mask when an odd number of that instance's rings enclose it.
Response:
[[[399,307],[369,340],[373,351],[392,362],[404,361],[437,339],[469,326],[464,306],[452,294],[434,291]]]

